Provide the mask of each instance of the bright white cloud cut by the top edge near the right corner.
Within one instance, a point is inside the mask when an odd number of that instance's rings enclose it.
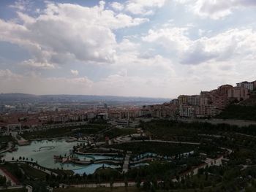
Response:
[[[230,15],[235,9],[241,7],[256,6],[255,0],[176,0],[181,4],[187,4],[189,9],[192,9],[197,15],[203,18],[211,18],[214,20],[225,18]]]

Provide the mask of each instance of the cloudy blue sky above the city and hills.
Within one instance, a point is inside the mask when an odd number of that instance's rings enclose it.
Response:
[[[176,98],[256,80],[256,0],[0,0],[0,93]]]

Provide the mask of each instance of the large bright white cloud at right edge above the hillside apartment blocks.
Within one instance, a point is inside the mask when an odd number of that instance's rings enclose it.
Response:
[[[214,37],[201,37],[192,42],[184,53],[185,64],[195,64],[214,59],[214,61],[242,60],[256,53],[256,31],[252,29],[230,29]]]

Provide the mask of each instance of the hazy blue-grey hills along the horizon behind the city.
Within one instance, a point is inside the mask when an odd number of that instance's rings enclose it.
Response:
[[[93,96],[93,95],[32,95],[25,93],[1,93],[0,102],[121,102],[155,104],[170,101],[171,99],[127,97],[127,96]]]

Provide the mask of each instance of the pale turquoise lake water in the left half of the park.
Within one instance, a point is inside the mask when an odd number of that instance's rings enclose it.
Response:
[[[78,145],[80,142],[66,142],[64,139],[56,139],[52,141],[42,140],[42,141],[33,141],[31,145],[18,146],[18,150],[12,153],[5,153],[4,159],[11,161],[12,158],[15,160],[20,157],[33,158],[34,162],[40,166],[51,169],[69,169],[73,170],[78,174],[92,174],[96,169],[102,167],[103,164],[91,164],[91,165],[77,165],[77,164],[61,164],[54,161],[53,155],[69,155],[69,151],[72,150],[72,147]],[[104,158],[113,158],[110,156],[103,155],[78,155],[78,158],[81,160],[91,160],[91,159],[104,159]],[[105,167],[118,168],[118,166],[112,166],[109,164],[104,164]]]

